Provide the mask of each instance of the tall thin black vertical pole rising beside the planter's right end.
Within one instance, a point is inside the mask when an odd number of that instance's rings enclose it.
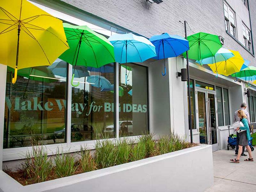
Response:
[[[185,25],[185,38],[187,39],[187,21],[184,21]],[[189,63],[188,63],[188,51],[186,51],[187,55],[187,73],[188,73],[188,127],[190,129],[190,142],[193,143],[193,132],[192,132],[192,121],[191,121],[191,102],[190,102],[190,77],[189,77]]]

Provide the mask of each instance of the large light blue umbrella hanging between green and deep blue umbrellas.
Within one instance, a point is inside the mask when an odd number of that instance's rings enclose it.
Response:
[[[114,34],[108,38],[114,46],[116,62],[125,63],[125,82],[127,84],[127,62],[143,62],[156,57],[156,47],[145,37],[132,33]]]

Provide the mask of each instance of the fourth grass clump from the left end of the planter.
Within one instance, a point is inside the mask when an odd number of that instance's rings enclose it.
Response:
[[[95,145],[95,161],[100,168],[116,165],[117,150],[111,140],[97,140]]]

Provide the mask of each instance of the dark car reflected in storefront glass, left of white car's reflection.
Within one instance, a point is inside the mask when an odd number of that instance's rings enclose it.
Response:
[[[61,135],[66,132],[65,128],[61,129],[60,131],[55,131],[54,134]],[[89,124],[83,123],[72,123],[71,124],[71,138],[76,138],[79,135],[79,140],[85,140],[88,137],[88,134],[91,137],[93,135],[93,127]],[[87,137],[86,137],[87,135]]]

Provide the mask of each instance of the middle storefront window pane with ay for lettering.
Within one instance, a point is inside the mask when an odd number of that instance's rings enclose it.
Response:
[[[115,137],[115,65],[78,66],[80,72],[74,78],[79,86],[72,87],[71,142]]]

